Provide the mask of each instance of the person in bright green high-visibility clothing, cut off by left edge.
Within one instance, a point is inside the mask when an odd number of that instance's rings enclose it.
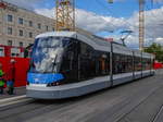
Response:
[[[0,94],[3,94],[3,88],[4,88],[3,75],[4,75],[4,72],[2,70],[2,63],[0,63]]]

